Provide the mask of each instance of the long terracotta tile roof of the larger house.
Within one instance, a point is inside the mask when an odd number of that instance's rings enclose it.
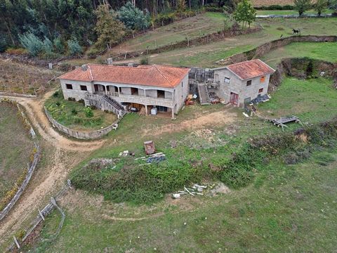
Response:
[[[112,82],[172,88],[180,84],[190,69],[162,65],[139,65],[126,67],[117,65],[86,65],[62,74],[58,79],[84,82]]]

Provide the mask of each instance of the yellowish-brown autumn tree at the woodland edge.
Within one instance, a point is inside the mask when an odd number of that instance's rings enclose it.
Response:
[[[95,32],[98,34],[96,48],[105,49],[119,44],[125,34],[125,27],[117,20],[116,14],[110,11],[110,6],[102,4],[95,11],[97,22]]]

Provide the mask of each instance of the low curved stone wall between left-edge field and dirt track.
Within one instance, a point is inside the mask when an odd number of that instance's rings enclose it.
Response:
[[[15,193],[11,202],[9,202],[8,205],[6,205],[6,207],[4,208],[4,210],[2,210],[0,212],[0,221],[5,218],[5,216],[8,214],[8,212],[11,211],[11,209],[13,208],[15,203],[18,201],[18,199],[22,195],[23,191],[25,190],[27,184],[29,183],[29,181],[30,181],[30,179],[31,179],[31,177],[34,173],[35,167],[37,167],[37,162],[39,161],[39,157],[40,157],[40,148],[39,148],[39,145],[37,145],[37,144],[35,144],[35,146],[37,148],[37,152],[34,153],[34,160],[33,160],[32,164],[30,164],[30,167],[28,168],[27,176],[26,176],[25,180],[22,182],[22,185],[20,186],[18,191]]]

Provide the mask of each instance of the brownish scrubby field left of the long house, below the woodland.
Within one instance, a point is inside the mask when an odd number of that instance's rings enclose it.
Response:
[[[58,77],[59,74],[41,67],[0,60],[0,91],[44,93],[55,84],[55,82],[48,84],[48,81],[55,76]]]

